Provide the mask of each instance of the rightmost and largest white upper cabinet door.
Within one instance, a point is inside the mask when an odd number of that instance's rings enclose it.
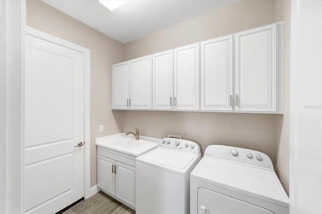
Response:
[[[235,111],[276,112],[276,24],[234,35]]]

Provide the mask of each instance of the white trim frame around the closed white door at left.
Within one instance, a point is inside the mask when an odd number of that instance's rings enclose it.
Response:
[[[84,72],[84,197],[88,198],[97,192],[97,188],[91,188],[91,51],[88,48],[76,45],[45,32],[26,26],[26,35],[34,36],[39,39],[52,42],[54,44],[81,52],[85,58]],[[24,166],[24,165],[23,165]],[[24,180],[24,178],[23,178]]]

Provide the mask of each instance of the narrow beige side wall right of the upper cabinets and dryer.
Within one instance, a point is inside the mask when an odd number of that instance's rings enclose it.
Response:
[[[276,21],[284,22],[284,114],[275,118],[277,160],[276,172],[289,192],[289,127],[290,127],[290,19],[291,1],[276,0]]]

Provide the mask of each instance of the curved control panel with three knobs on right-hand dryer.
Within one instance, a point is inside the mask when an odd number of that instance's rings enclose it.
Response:
[[[274,171],[272,161],[266,154],[251,149],[210,145],[206,148],[205,156]]]

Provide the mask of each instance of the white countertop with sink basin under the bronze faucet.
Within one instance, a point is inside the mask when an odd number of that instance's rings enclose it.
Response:
[[[96,138],[96,145],[138,157],[157,147],[159,138],[139,136],[136,141],[133,135],[125,133]]]

